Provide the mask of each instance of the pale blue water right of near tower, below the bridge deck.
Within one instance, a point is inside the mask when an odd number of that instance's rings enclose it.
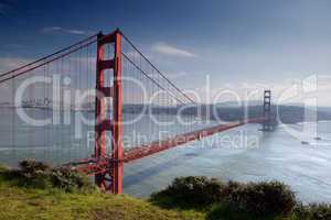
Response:
[[[218,142],[195,142],[128,164],[124,191],[148,197],[178,176],[203,175],[245,183],[280,180],[305,202],[331,202],[331,122],[320,122],[321,140],[306,138],[309,144],[285,127],[267,133],[259,129],[247,124],[210,138]]]

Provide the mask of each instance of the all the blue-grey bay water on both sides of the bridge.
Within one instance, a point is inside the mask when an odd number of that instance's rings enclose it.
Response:
[[[52,114],[44,110],[26,111],[38,118]],[[78,132],[83,134],[82,139],[75,138],[77,112],[71,112],[70,124],[39,128],[32,128],[11,112],[10,109],[0,112],[2,164],[15,166],[23,158],[61,164],[90,156],[94,152],[93,133],[88,134],[93,127],[83,125]],[[92,112],[85,114],[93,118]],[[170,118],[160,116],[160,120],[169,121]],[[125,165],[124,193],[146,198],[167,187],[175,177],[203,175],[223,180],[280,180],[305,202],[331,202],[331,122],[319,122],[317,134],[293,135],[302,133],[303,125],[314,128],[314,123],[302,123],[261,132],[259,124],[246,124],[135,161]],[[203,125],[196,127],[201,128]],[[125,125],[124,133],[130,136],[130,132],[137,130],[153,136],[158,129],[149,119],[142,118],[135,127]],[[185,131],[185,128],[171,129],[172,134],[179,131]],[[172,135],[171,132],[168,135]],[[320,140],[314,140],[316,136]]]

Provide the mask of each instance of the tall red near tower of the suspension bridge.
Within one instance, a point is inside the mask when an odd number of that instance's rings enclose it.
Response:
[[[114,45],[114,57],[105,56],[105,45]],[[109,54],[109,53],[107,53]],[[109,160],[110,168],[95,175],[96,185],[113,194],[121,194],[122,150],[121,150],[121,34],[98,35],[96,61],[95,102],[95,158]],[[105,81],[105,70],[113,69],[114,80]],[[111,77],[107,77],[109,79]],[[113,119],[108,119],[106,98],[113,98]],[[106,152],[106,131],[111,132],[111,155]],[[109,143],[108,143],[109,144]],[[108,176],[108,177],[107,177]]]

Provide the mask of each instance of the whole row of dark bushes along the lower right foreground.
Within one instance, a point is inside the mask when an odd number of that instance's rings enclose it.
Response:
[[[331,220],[331,205],[297,204],[291,189],[279,182],[223,184],[202,176],[181,177],[151,200],[166,208],[203,209],[209,220]]]

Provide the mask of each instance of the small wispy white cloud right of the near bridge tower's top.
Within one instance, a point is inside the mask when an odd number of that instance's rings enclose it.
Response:
[[[166,55],[170,55],[170,56],[180,56],[180,57],[197,57],[196,54],[193,54],[191,52],[178,48],[175,46],[166,44],[166,43],[156,43],[152,46],[152,51],[160,53],[160,54],[166,54]]]

